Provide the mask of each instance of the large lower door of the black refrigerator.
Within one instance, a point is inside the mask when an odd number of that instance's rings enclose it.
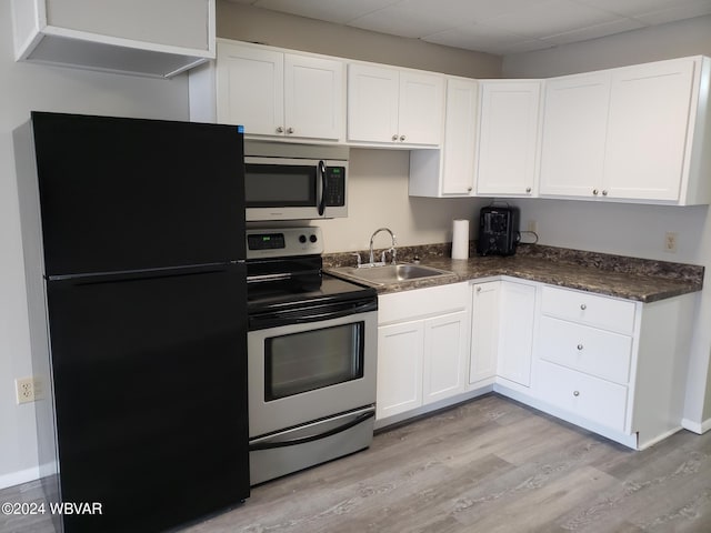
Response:
[[[48,283],[71,532],[163,531],[249,495],[246,272]]]

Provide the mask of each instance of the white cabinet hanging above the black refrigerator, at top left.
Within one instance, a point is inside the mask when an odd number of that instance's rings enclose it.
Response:
[[[214,0],[12,0],[16,60],[171,77],[214,58]]]

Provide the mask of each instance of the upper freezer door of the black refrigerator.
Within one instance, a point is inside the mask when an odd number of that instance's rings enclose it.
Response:
[[[244,259],[237,125],[32,113],[48,275]]]

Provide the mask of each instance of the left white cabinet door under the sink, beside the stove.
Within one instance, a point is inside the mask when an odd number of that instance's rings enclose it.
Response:
[[[424,322],[378,328],[378,420],[422,405]]]

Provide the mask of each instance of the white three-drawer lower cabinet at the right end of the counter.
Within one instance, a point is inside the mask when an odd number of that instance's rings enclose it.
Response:
[[[534,406],[635,449],[675,432],[694,300],[642,303],[542,285]]]

